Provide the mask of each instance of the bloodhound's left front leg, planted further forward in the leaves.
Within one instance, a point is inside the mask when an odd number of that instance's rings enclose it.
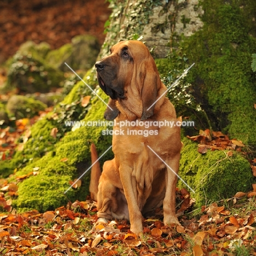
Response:
[[[131,231],[139,236],[143,234],[142,214],[137,202],[137,184],[136,179],[132,176],[132,168],[121,165],[119,168],[121,182],[123,184],[125,197],[127,200]]]

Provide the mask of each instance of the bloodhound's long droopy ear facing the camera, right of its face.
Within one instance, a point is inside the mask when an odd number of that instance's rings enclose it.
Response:
[[[143,105],[141,120],[146,120],[154,114],[154,107],[161,80],[152,56],[148,58],[144,66],[144,79],[141,90],[141,100]]]

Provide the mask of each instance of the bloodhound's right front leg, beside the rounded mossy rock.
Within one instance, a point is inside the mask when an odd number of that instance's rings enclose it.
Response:
[[[174,156],[170,160],[166,161],[166,193],[165,199],[163,203],[164,208],[164,223],[166,224],[179,224],[178,218],[176,216],[176,183],[177,183],[177,176],[175,173],[178,174],[179,170],[179,158],[180,154]],[[170,168],[171,167],[171,168]],[[174,173],[175,172],[175,173]]]

